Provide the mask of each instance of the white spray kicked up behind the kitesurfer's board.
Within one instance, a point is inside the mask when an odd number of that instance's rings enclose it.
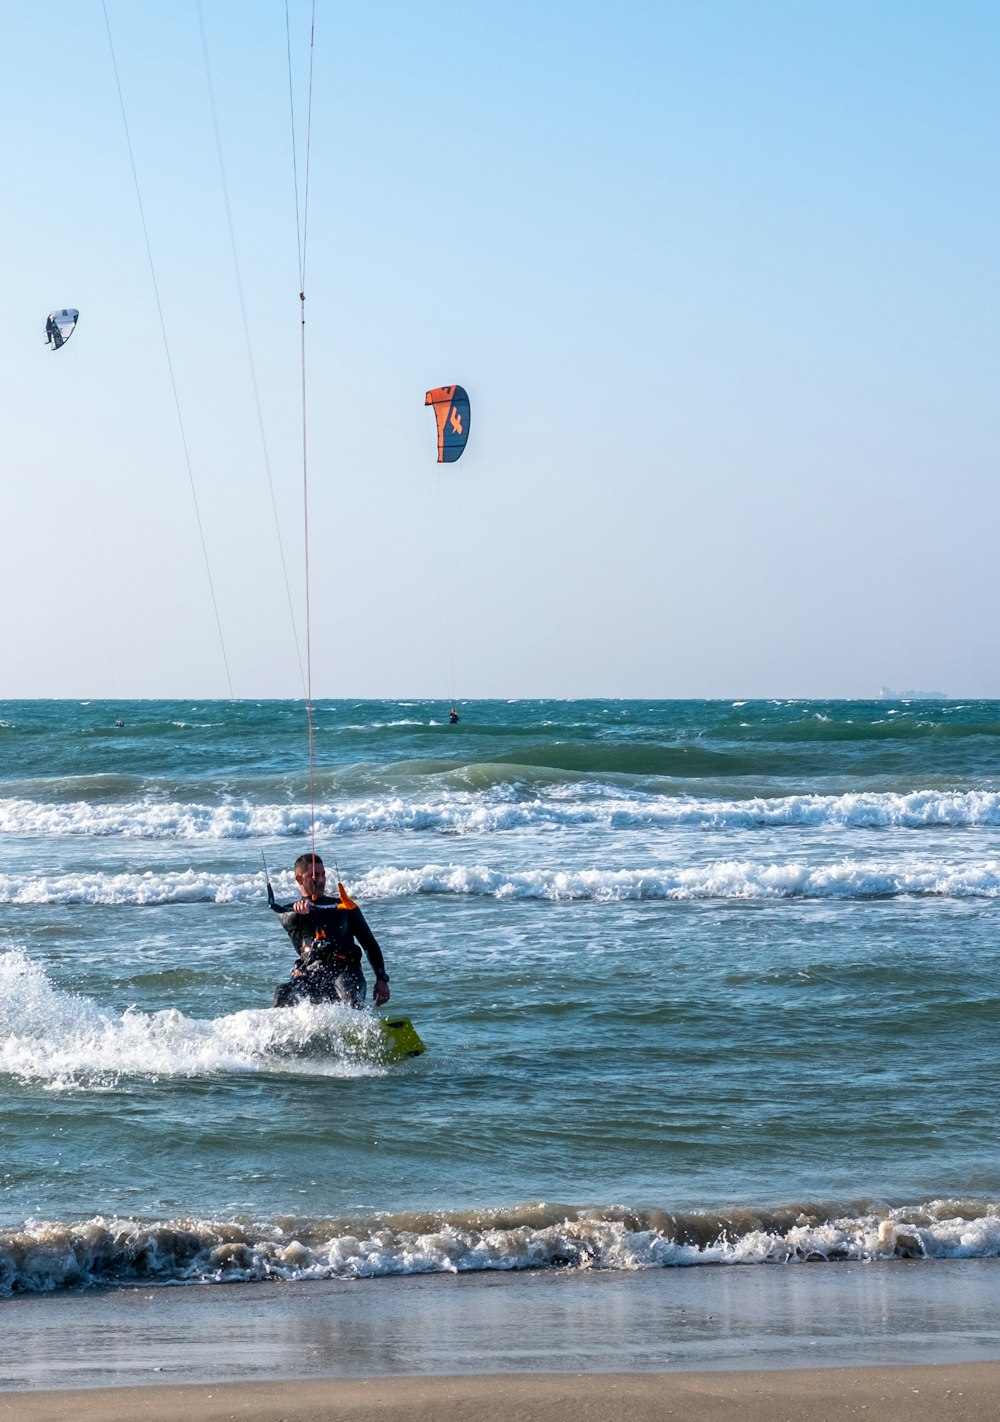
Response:
[[[373,1075],[384,1071],[380,1042],[370,1014],[326,1004],[216,1018],[115,1012],[54,987],[26,953],[0,954],[0,1074],[51,1089],[232,1072]]]

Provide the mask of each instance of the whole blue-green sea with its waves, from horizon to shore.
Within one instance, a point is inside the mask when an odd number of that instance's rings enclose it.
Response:
[[[1000,702],[458,710],[0,702],[0,1295],[997,1257]]]

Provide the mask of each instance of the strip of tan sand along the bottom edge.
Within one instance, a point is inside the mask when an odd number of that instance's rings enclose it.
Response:
[[[1000,1364],[199,1384],[0,1395],[0,1422],[987,1422]]]

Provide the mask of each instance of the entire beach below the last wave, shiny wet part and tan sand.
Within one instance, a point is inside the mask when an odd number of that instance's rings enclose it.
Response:
[[[993,1419],[1000,1260],[408,1276],[0,1303],[0,1422]]]

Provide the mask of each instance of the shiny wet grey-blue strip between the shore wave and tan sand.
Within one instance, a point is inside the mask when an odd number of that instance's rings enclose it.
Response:
[[[997,1258],[127,1287],[20,1295],[0,1313],[0,1401],[282,1379],[1000,1369]]]

